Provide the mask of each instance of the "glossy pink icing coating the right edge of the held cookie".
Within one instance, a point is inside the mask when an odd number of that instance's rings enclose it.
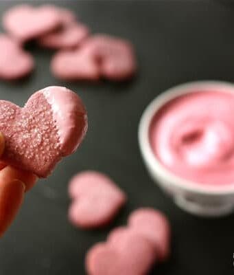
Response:
[[[51,105],[62,153],[69,155],[78,148],[87,130],[84,104],[77,94],[66,87],[51,86],[41,92]],[[72,134],[74,131],[77,135]]]

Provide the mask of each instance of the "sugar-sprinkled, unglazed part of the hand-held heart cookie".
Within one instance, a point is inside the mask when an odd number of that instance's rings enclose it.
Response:
[[[54,157],[59,157],[58,131],[43,94],[37,94],[36,101],[28,102],[22,111],[16,105],[12,109],[1,103],[0,129],[5,133],[6,149],[14,152],[8,157],[17,162],[33,160],[34,165],[44,170]]]

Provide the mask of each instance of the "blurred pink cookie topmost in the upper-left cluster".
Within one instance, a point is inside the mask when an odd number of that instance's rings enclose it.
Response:
[[[60,12],[53,5],[16,5],[3,16],[5,30],[21,42],[55,30],[60,24]]]

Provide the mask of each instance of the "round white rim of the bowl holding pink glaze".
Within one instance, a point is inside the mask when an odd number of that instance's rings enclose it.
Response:
[[[138,141],[141,155],[145,163],[148,165],[150,170],[152,170],[156,175],[159,175],[161,178],[165,179],[167,185],[174,186],[175,188],[180,188],[185,191],[191,191],[199,193],[200,195],[234,195],[234,182],[233,184],[224,184],[219,186],[213,185],[203,185],[196,181],[191,181],[184,179],[174,173],[170,172],[159,159],[154,155],[152,147],[150,145],[149,130],[152,118],[161,107],[167,102],[183,96],[184,94],[190,94],[191,92],[196,92],[198,89],[202,91],[210,91],[211,88],[223,91],[234,93],[234,84],[226,81],[219,80],[199,80],[188,83],[183,83],[176,85],[172,88],[169,88],[163,91],[162,94],[156,96],[154,100],[148,104],[148,106],[143,111],[141,119],[139,121],[138,128]]]

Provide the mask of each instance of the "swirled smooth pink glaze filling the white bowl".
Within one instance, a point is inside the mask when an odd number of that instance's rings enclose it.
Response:
[[[234,89],[195,91],[159,110],[154,154],[172,173],[200,184],[234,183]]]

